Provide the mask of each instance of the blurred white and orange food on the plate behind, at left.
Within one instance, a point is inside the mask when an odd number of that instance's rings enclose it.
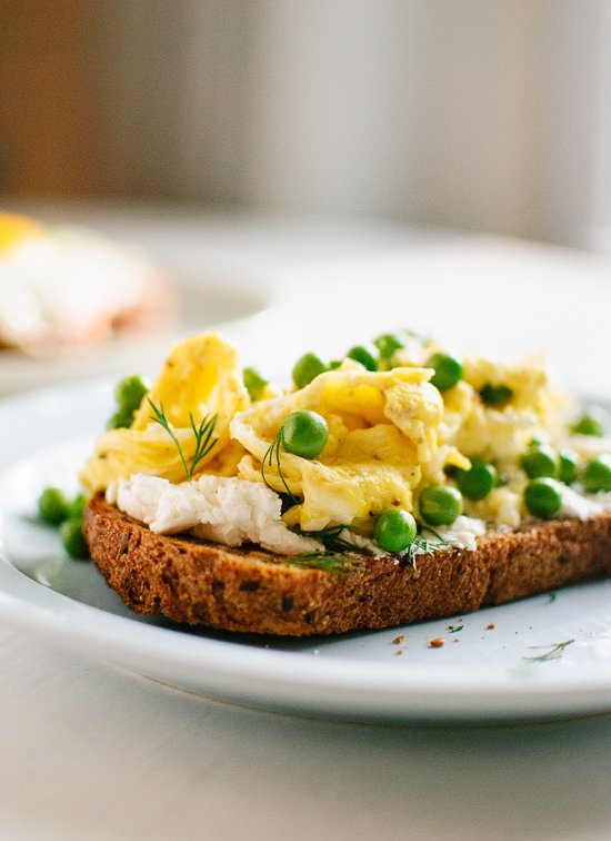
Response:
[[[0,211],[0,349],[64,356],[174,316],[174,290],[143,250]]]

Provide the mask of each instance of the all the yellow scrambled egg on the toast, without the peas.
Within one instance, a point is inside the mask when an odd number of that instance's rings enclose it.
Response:
[[[408,358],[403,350],[400,367],[378,372],[347,359],[304,388],[251,403],[234,349],[216,334],[196,336],[172,350],[131,427],[100,436],[81,482],[94,492],[136,473],[186,479],[176,443],[151,419],[152,403],[163,408],[187,462],[197,444],[191,417],[198,424],[217,415],[217,443],[194,475],[264,483],[280,494],[288,488],[299,497],[284,514],[289,526],[354,524],[367,533],[385,508],[415,512],[423,487],[448,482],[452,468],[468,469],[472,458],[507,475],[485,499],[465,501],[465,512],[517,525],[524,484],[519,454],[533,436],[549,433],[558,409],[543,360],[465,360],[463,378],[442,394],[429,382],[424,356],[412,348]],[[503,405],[484,404],[480,392],[488,385],[509,389]],[[283,422],[298,409],[317,412],[329,426],[315,459],[273,451]]]

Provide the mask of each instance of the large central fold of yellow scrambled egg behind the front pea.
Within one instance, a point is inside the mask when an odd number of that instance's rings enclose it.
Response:
[[[314,531],[362,525],[391,506],[411,511],[413,489],[439,451],[443,404],[427,382],[430,374],[424,368],[371,373],[349,364],[298,392],[254,404],[231,424],[231,435],[248,451],[238,474],[260,478],[261,462],[284,419],[311,409],[325,418],[329,441],[315,461],[281,456],[288,486],[303,496],[290,512],[291,524]],[[445,463],[469,466],[453,449]],[[273,459],[264,473],[276,491],[284,491]]]

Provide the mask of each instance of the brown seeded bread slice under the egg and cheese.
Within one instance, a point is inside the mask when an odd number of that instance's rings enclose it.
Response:
[[[417,558],[364,558],[345,576],[286,565],[256,547],[160,536],[103,496],[84,511],[91,556],[137,613],[227,631],[303,636],[459,616],[485,605],[611,575],[611,512],[479,538]]]

